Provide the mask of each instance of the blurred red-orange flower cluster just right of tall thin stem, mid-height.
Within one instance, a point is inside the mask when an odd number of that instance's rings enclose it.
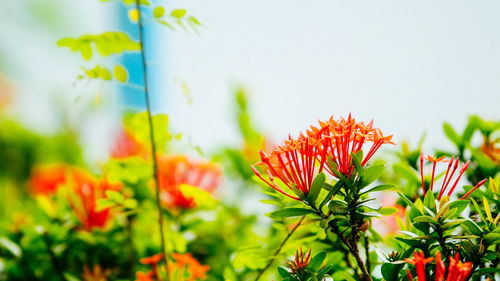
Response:
[[[194,198],[182,194],[182,184],[213,192],[221,182],[219,166],[210,162],[194,161],[183,155],[158,157],[158,181],[161,199],[169,207],[190,209],[196,207]]]

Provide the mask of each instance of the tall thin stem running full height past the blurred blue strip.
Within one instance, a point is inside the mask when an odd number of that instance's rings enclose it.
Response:
[[[143,25],[142,25],[142,16],[139,0],[135,0],[135,8],[137,9],[137,13],[139,14],[138,19],[138,27],[139,27],[139,45],[141,47],[141,62],[142,62],[142,73],[144,79],[144,96],[146,99],[146,109],[148,114],[148,123],[149,123],[149,137],[151,140],[151,157],[153,161],[153,181],[155,183],[156,190],[156,204],[158,206],[158,226],[160,228],[160,241],[161,241],[161,251],[163,253],[163,260],[165,261],[165,269],[166,269],[166,280],[170,280],[170,272],[168,268],[168,253],[167,247],[165,245],[165,230],[163,228],[163,210],[161,207],[160,200],[160,184],[158,182],[158,159],[156,159],[156,143],[155,143],[155,134],[154,134],[154,125],[153,125],[153,116],[151,113],[151,101],[149,96],[149,87],[148,87],[148,68],[146,65],[146,49],[144,47],[144,34],[143,34]]]

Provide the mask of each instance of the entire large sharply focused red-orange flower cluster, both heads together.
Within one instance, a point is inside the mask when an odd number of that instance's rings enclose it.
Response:
[[[361,166],[364,166],[382,144],[394,144],[391,139],[392,135],[384,136],[378,128],[374,128],[373,121],[368,124],[356,122],[350,114],[347,119],[335,120],[331,117],[328,121],[320,121],[319,127],[311,126],[306,135],[299,134],[297,139],[289,137],[283,145],[275,146],[270,154],[261,151],[261,161],[253,165],[252,170],[276,191],[300,200],[283,190],[275,178],[290,190],[295,186],[307,195],[314,177],[323,169],[335,176],[326,164],[328,159],[335,162],[337,170],[349,178],[354,171],[352,153],[371,143],[368,153],[360,159]],[[266,166],[269,180],[257,170],[258,165]]]

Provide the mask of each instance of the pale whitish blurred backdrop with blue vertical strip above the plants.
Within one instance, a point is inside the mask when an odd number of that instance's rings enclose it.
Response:
[[[467,114],[500,117],[498,2],[165,4],[187,9],[203,27],[194,33],[146,23],[154,110],[168,113],[202,150],[238,140],[232,105],[239,85],[258,126],[276,140],[352,112],[374,118],[396,141],[427,132],[426,146],[435,148],[448,145],[445,120],[463,128]],[[122,58],[129,85],[82,82],[87,62],[56,42],[117,29],[137,36],[125,7],[97,0],[1,6],[0,71],[16,93],[11,114],[46,133],[78,124],[86,157],[105,158],[119,113],[144,105],[138,57]]]

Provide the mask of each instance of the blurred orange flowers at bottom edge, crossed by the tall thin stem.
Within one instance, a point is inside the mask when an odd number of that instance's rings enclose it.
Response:
[[[206,278],[210,266],[201,265],[191,253],[172,253],[174,263],[169,263],[170,280],[172,281],[195,281]],[[151,265],[152,270],[148,272],[136,272],[136,281],[162,281],[159,263],[163,254],[156,254],[140,260],[142,264]],[[187,279],[186,279],[187,277]]]

